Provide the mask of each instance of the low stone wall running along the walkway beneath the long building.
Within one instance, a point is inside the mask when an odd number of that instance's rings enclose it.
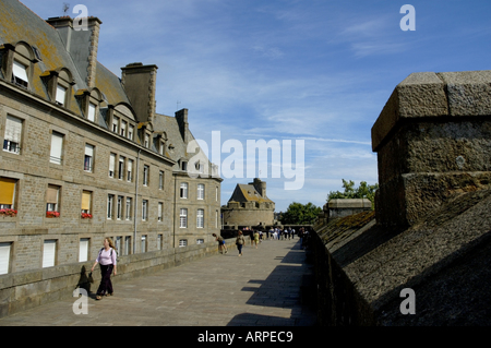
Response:
[[[226,240],[229,251],[235,250],[235,239]],[[118,257],[118,274],[112,283],[179,266],[218,253],[216,242],[166,249]],[[19,272],[0,277],[0,317],[52,301],[68,299],[73,290],[81,287],[95,293],[100,281],[99,267],[93,274],[94,283],[88,283],[88,274],[94,260],[58,265],[49,268]],[[74,299],[75,300],[75,299]],[[70,310],[70,309],[68,309]]]

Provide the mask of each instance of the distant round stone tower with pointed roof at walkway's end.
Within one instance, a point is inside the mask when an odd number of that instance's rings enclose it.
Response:
[[[226,228],[272,226],[274,211],[275,203],[266,195],[266,182],[258,178],[249,184],[238,183],[227,205],[221,206]]]

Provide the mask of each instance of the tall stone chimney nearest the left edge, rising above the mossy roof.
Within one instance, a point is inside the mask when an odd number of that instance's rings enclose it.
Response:
[[[73,29],[73,20],[69,16],[51,17],[46,22],[60,33],[67,51],[72,57],[87,87],[95,87],[97,49],[99,46],[100,24],[103,22],[94,16],[87,17],[87,31]]]

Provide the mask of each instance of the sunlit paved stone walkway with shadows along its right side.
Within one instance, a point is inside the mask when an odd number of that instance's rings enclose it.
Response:
[[[263,241],[149,276],[115,284],[115,296],[75,298],[0,319],[0,326],[311,326],[315,314],[300,303],[302,276],[311,272],[299,240]],[[93,285],[96,288],[97,285]]]

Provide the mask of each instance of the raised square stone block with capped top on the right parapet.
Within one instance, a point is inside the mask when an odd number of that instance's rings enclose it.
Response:
[[[491,183],[491,71],[415,73],[372,128],[378,224],[405,228]]]

